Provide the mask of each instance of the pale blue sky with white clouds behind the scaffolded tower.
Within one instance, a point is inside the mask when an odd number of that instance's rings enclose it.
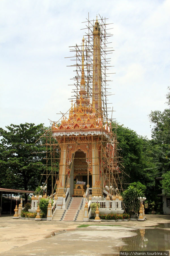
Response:
[[[58,121],[71,106],[69,46],[96,14],[112,24],[112,118],[151,138],[151,111],[167,108],[170,0],[1,0],[0,127]]]

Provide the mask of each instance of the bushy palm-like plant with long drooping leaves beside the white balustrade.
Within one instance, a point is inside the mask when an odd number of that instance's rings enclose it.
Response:
[[[143,197],[142,189],[138,189],[132,185],[126,189],[122,195],[126,212],[130,214],[130,218],[135,218],[140,210],[141,203],[138,197]]]

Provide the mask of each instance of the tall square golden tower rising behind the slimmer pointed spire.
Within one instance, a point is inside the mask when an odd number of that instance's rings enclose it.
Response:
[[[100,57],[100,25],[96,17],[93,28],[93,94],[92,106],[97,116],[103,116],[101,104],[101,57]]]

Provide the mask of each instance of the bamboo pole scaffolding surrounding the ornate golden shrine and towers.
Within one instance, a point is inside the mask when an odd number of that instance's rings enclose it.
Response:
[[[108,92],[108,90],[110,90],[111,88],[109,88],[109,82],[111,82],[112,80],[109,80],[109,75],[112,75],[114,73],[109,73],[109,68],[113,67],[111,65],[111,53],[113,53],[113,48],[110,47],[111,43],[109,40],[112,36],[111,33],[109,33],[108,31],[111,28],[108,28],[108,26],[110,26],[110,24],[112,23],[106,23],[107,18],[103,18],[99,15],[99,19],[98,22],[100,24],[101,27],[101,37],[100,37],[100,64],[99,65],[99,69],[97,71],[99,71],[99,78],[101,80],[101,102],[102,102],[102,112],[103,112],[103,122],[104,123],[108,123],[110,126],[110,133],[109,133],[109,137],[106,140],[105,134],[104,134],[104,128],[102,128],[102,133],[101,133],[101,138],[100,141],[98,141],[97,143],[100,145],[100,149],[98,150],[99,155],[98,156],[94,156],[91,159],[97,159],[99,164],[99,168],[101,170],[101,186],[102,186],[102,198],[103,198],[103,188],[106,184],[114,188],[118,188],[119,189],[119,193],[120,191],[123,191],[123,186],[122,183],[124,183],[124,174],[127,175],[124,172],[124,166],[122,164],[122,157],[120,156],[119,152],[121,151],[121,148],[118,145],[118,141],[116,139],[116,127],[117,124],[114,123],[113,121],[113,117],[112,114],[114,112],[113,107],[112,110],[109,110],[111,108],[108,107],[108,97],[113,95],[112,93]],[[94,28],[94,20],[90,20],[89,19],[89,15],[88,18],[86,18],[85,22],[82,22],[83,24],[85,23],[85,28],[82,28],[83,33],[84,33],[84,39],[85,39],[85,44],[84,44],[84,52],[83,52],[83,56],[84,56],[84,80],[85,80],[85,87],[86,87],[86,92],[87,92],[87,96],[86,99],[92,100],[92,93],[93,93],[93,79],[94,79],[94,75],[93,75],[93,71],[94,71],[94,59],[93,59],[93,28]],[[70,49],[70,53],[71,56],[70,57],[65,57],[65,58],[69,58],[71,61],[75,61],[75,63],[73,65],[68,65],[69,67],[75,67],[75,76],[73,78],[71,78],[71,80],[73,80],[73,84],[69,84],[69,86],[74,86],[73,90],[72,90],[72,98],[69,98],[69,100],[75,101],[75,103],[73,104],[73,108],[76,104],[76,101],[79,98],[78,95],[78,91],[80,90],[80,82],[82,79],[82,45],[78,45],[76,44],[75,46],[69,46]],[[97,55],[96,55],[97,56]],[[99,92],[99,89],[98,89]],[[97,112],[98,110],[95,109],[94,107],[92,107],[92,104],[89,104],[89,107],[92,108],[92,111]],[[60,111],[60,113],[56,113],[61,115],[61,117],[58,119],[58,121],[52,121],[49,119],[49,121],[55,124],[55,126],[60,125],[61,119],[67,119],[67,115],[69,114],[69,111],[71,110],[71,108],[69,108],[69,110],[66,113],[62,113]],[[98,111],[99,112],[99,111]],[[108,112],[112,112],[111,113],[111,118],[109,118],[109,114]],[[82,131],[83,125],[85,125],[85,122],[82,121],[80,122],[81,128],[80,131]],[[113,133],[112,130],[115,130],[115,132]],[[82,135],[84,136],[84,135]],[[61,150],[60,150],[60,145],[59,143],[56,141],[55,137],[55,131],[52,131],[51,129],[48,129],[47,131],[44,132],[44,134],[39,138],[42,141],[44,141],[44,143],[41,144],[41,146],[45,146],[46,147],[46,151],[45,152],[36,152],[36,154],[45,154],[43,160],[46,160],[46,164],[39,164],[44,166],[44,172],[41,174],[42,175],[42,179],[44,179],[44,177],[46,177],[46,179],[44,180],[44,183],[48,183],[48,179],[50,177],[51,179],[51,190],[52,190],[52,194],[54,193],[54,190],[56,189],[56,183],[57,181],[59,181],[59,184],[61,184],[61,179],[63,176],[65,176],[65,183],[64,183],[64,189],[67,187],[68,185],[68,181],[69,178],[71,176],[75,176],[75,174],[71,174],[71,172],[68,174],[62,173],[60,174],[61,177],[59,176],[59,163],[63,162],[62,166],[67,167],[68,164],[66,163],[67,158],[68,158],[68,154],[69,154],[69,147],[68,145],[75,145],[75,151],[72,154],[72,161],[70,164],[70,170],[72,170],[72,166],[74,163],[74,160],[86,160],[86,157],[76,157],[75,153],[76,153],[76,149],[78,146],[82,145],[82,144],[86,144],[88,146],[88,148],[90,147],[90,145],[92,145],[94,142],[94,138],[96,138],[96,135],[86,135],[86,142],[84,141],[80,141],[80,132],[79,135],[76,135],[74,137],[67,137],[68,141],[65,141],[65,146],[67,146],[67,152],[66,152],[66,156],[63,157],[61,159]],[[58,139],[63,139],[63,136],[58,136]],[[90,140],[92,139],[92,140]],[[61,161],[62,160],[62,161]],[[96,161],[97,162],[97,161]],[[77,165],[78,166],[78,165]],[[97,166],[97,164],[96,164]],[[119,169],[118,169],[119,167]],[[90,176],[96,176],[99,174],[91,174],[89,171],[89,167],[87,165],[87,163],[81,164],[81,168],[87,169],[87,181],[89,184],[89,177]],[[77,167],[77,169],[79,169],[79,167]],[[64,168],[63,168],[64,170]],[[78,174],[79,176],[84,176],[84,174]],[[41,179],[41,180],[42,180]],[[56,190],[56,194],[58,195],[59,192],[59,188],[57,187]]]

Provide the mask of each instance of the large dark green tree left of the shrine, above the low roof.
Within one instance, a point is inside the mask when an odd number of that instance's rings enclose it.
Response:
[[[35,190],[39,184],[43,154],[33,154],[46,149],[37,141],[44,133],[43,124],[11,124],[7,130],[0,128],[0,186],[9,189]],[[35,143],[37,141],[37,143]],[[27,194],[25,194],[27,201]]]

